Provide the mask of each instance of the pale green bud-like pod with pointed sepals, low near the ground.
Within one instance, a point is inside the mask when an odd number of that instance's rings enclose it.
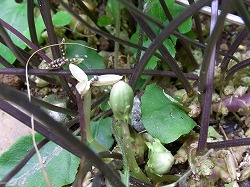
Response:
[[[174,164],[174,156],[158,139],[146,144],[149,148],[147,167],[150,172],[159,176],[167,173]]]

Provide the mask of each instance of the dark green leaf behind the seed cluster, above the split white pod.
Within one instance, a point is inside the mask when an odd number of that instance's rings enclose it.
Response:
[[[75,40],[73,43],[88,46],[83,40]],[[103,57],[101,57],[94,49],[81,45],[66,45],[66,54],[68,58],[83,58],[84,61],[78,64],[81,69],[105,69]]]

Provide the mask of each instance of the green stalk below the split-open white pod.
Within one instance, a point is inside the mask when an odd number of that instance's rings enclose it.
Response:
[[[91,133],[91,126],[90,126],[91,89],[87,91],[87,93],[84,95],[83,110],[84,110],[84,119],[85,119],[85,124],[86,124],[87,142],[91,145],[91,147],[97,149],[99,152],[108,151],[105,147],[103,147],[94,139]]]

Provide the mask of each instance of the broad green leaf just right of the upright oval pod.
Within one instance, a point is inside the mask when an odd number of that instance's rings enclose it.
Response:
[[[154,138],[170,143],[187,134],[196,123],[168,100],[160,87],[148,85],[142,98],[142,122]]]

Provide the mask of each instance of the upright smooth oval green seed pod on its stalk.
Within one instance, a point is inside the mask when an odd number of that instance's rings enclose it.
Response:
[[[134,92],[124,81],[114,84],[110,92],[110,106],[117,120],[128,122],[133,107]]]

